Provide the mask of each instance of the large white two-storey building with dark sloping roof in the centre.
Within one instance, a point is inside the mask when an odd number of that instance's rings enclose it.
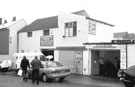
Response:
[[[114,25],[99,21],[85,10],[37,19],[21,29],[19,52],[41,51],[71,68],[72,73],[91,75],[90,52],[84,43],[111,42]]]

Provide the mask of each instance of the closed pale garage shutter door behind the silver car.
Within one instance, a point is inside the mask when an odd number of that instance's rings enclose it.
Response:
[[[82,74],[82,51],[59,51],[59,61],[64,66],[70,67],[71,73]]]

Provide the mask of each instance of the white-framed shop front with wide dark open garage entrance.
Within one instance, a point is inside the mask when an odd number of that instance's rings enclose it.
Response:
[[[117,77],[119,69],[127,68],[127,44],[87,43],[88,70],[92,76]]]

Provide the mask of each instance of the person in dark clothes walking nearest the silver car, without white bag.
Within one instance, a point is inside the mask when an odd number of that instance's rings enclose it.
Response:
[[[36,84],[39,84],[39,69],[41,67],[41,61],[38,59],[37,56],[35,56],[35,59],[32,60],[31,62],[32,65],[32,83],[35,83],[37,80]]]

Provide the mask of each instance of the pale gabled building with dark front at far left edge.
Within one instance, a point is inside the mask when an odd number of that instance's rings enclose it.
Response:
[[[23,19],[0,25],[0,60],[11,59],[12,54],[17,52],[17,32],[25,26]]]

